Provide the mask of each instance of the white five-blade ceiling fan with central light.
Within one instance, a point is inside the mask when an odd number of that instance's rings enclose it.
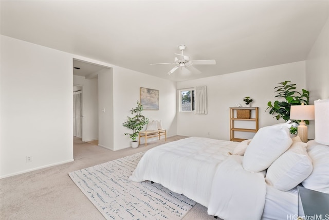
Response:
[[[172,63],[151,63],[150,65],[160,65],[160,64],[177,64],[174,68],[172,68],[168,74],[171,75],[174,71],[176,71],[178,68],[189,68],[191,70],[194,70],[194,72],[197,72],[200,74],[201,72],[193,67],[192,65],[214,65],[216,64],[215,60],[190,60],[189,56],[184,55],[183,51],[185,50],[185,45],[178,46],[178,49],[181,51],[181,53],[175,53],[175,55],[180,56],[181,58],[178,59],[175,57],[174,62]]]

